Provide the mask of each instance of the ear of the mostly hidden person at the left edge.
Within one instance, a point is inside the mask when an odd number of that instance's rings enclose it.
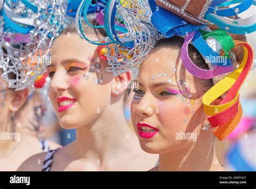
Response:
[[[25,104],[28,99],[29,89],[23,89],[22,91],[16,91],[13,94],[13,98],[10,104],[10,111],[17,112]]]

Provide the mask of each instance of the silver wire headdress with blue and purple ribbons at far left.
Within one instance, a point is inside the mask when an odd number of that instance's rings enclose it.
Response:
[[[53,40],[70,22],[65,17],[65,1],[29,1],[31,6],[21,1],[8,2],[4,3],[0,21],[0,65],[3,79],[18,91],[32,86],[42,75],[51,63]]]

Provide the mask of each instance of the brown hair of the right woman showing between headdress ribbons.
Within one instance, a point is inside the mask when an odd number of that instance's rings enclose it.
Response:
[[[214,31],[218,29],[218,26],[215,25],[209,25],[209,28]],[[246,37],[244,35],[235,35],[233,33],[229,33],[230,36],[233,38],[234,41],[242,40],[246,41]],[[155,48],[172,48],[180,50],[181,46],[184,43],[184,39],[178,36],[173,36],[171,38],[163,38],[158,40]],[[242,57],[244,57],[244,51],[240,46],[235,46],[232,50],[232,52],[235,53],[236,56],[236,62],[241,63]],[[199,68],[204,70],[209,70],[208,65],[205,63],[204,58],[201,56],[199,51],[192,45],[188,45],[188,56],[191,58],[192,62],[197,65]],[[198,85],[202,88],[202,91],[205,93],[207,92],[212,86],[213,81],[212,79],[200,79],[197,77],[194,77],[196,79],[196,82]]]

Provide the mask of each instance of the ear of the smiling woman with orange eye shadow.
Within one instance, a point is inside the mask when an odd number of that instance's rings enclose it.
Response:
[[[132,80],[132,73],[128,71],[120,76],[114,77],[114,84],[112,85],[112,95],[118,96],[128,89]]]

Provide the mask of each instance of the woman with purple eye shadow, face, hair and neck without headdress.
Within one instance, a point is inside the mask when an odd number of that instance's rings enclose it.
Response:
[[[180,37],[159,40],[140,65],[135,80],[139,90],[131,105],[132,123],[142,149],[159,154],[159,165],[151,171],[224,171],[214,148],[214,128],[208,131],[202,104],[213,83],[186,71],[180,59],[183,43]],[[193,62],[205,68],[199,52],[193,46],[189,49]],[[237,59],[242,59],[239,50],[233,49]],[[213,105],[220,102],[218,98]]]

